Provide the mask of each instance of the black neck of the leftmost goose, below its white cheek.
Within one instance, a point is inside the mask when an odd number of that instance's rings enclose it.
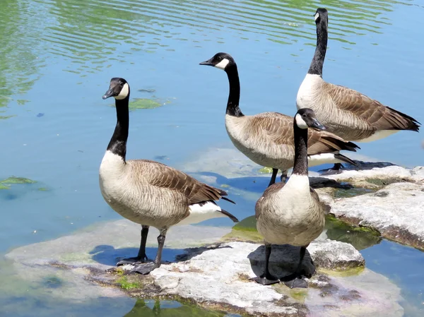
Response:
[[[117,125],[115,126],[112,138],[110,139],[107,150],[110,150],[115,155],[119,155],[125,161],[126,155],[126,140],[128,140],[129,128],[129,95],[122,99],[115,99],[117,108]]]

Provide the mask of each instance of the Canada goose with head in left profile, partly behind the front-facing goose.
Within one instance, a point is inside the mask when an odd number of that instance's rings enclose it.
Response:
[[[275,183],[278,169],[283,171],[281,180],[287,176],[287,169],[293,167],[295,143],[293,137],[293,117],[278,112],[264,112],[245,116],[239,107],[240,80],[237,64],[230,54],[217,53],[200,65],[215,66],[228,75],[230,93],[225,114],[225,128],[235,147],[250,160],[265,167],[272,167],[273,174],[269,185]],[[309,165],[331,162],[348,162],[355,165],[339,150],[356,151],[357,145],[346,142],[334,134],[323,131],[309,131]]]

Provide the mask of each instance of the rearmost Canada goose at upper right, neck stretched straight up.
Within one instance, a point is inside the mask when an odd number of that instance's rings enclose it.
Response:
[[[418,131],[416,119],[384,106],[360,92],[326,83],[322,67],[328,40],[328,12],[318,8],[317,47],[314,57],[298,90],[298,109],[310,108],[327,130],[345,140],[370,142],[385,138],[399,130]]]

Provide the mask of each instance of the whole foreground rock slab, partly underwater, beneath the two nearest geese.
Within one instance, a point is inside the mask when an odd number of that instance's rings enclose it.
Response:
[[[249,277],[264,269],[264,246],[221,242],[230,231],[229,227],[172,227],[165,242],[165,262],[151,275],[128,275],[122,267],[114,267],[120,258],[134,256],[138,250],[140,226],[128,220],[105,222],[66,237],[23,246],[6,258],[13,275],[46,285],[46,292],[54,297],[75,301],[130,294],[189,301],[252,316],[403,314],[399,288],[365,269],[363,257],[350,244],[326,239],[312,242],[304,262],[305,271],[313,270],[311,259],[317,266],[310,288],[289,289],[250,282]],[[156,233],[155,229],[149,232],[149,258],[155,255]],[[298,256],[296,247],[273,246],[271,272],[291,272]],[[8,289],[4,286],[1,291]]]

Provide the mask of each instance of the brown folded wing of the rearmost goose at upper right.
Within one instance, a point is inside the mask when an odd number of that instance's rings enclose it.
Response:
[[[350,113],[356,121],[362,121],[361,124],[367,124],[372,129],[412,131],[419,129],[420,123],[416,119],[384,106],[381,102],[356,90],[331,83],[324,83],[324,90],[338,109]]]

